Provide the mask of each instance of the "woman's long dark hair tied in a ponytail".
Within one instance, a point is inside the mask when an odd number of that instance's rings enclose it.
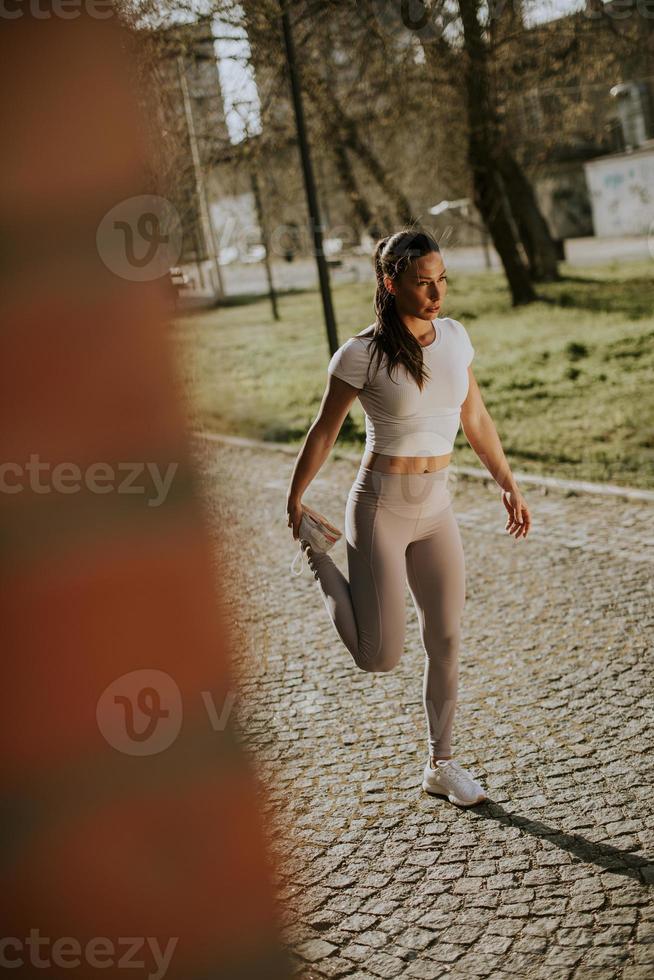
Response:
[[[394,380],[391,377],[391,370],[396,364],[401,363],[409,374],[413,375],[421,391],[428,378],[423,363],[422,347],[400,319],[395,306],[395,296],[386,289],[384,276],[397,279],[413,259],[427,255],[429,252],[440,253],[438,242],[429,232],[403,228],[394,235],[379,239],[373,256],[377,288],[372,342],[377,353],[377,369],[383,354],[386,354],[388,376],[391,381]]]

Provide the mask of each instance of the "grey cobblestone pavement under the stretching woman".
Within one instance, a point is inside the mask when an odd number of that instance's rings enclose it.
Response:
[[[401,663],[360,671],[306,561],[290,575],[294,457],[194,446],[297,976],[654,977],[654,506],[525,488],[516,541],[493,481],[450,485],[467,572],[453,752],[490,796],[461,809],[421,789],[408,589]],[[304,497],[341,529],[355,473],[332,455]],[[332,554],[347,574],[342,541]]]

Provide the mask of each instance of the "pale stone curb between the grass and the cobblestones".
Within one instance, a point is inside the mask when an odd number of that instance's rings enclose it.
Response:
[[[201,432],[191,430],[190,435],[206,439],[209,442],[223,442],[230,446],[243,446],[248,449],[267,449],[272,452],[286,453],[289,456],[297,456],[299,450],[287,446],[283,442],[264,442],[262,439],[248,439],[245,436],[232,436],[220,432]],[[355,453],[337,450],[339,459],[347,459],[357,465],[361,461],[361,456]],[[456,466],[452,464],[452,472],[460,473],[464,476],[475,479],[493,481],[488,470],[482,470],[476,466]],[[623,497],[627,500],[640,500],[646,503],[654,503],[654,490],[640,490],[637,487],[621,487],[615,483],[591,483],[587,480],[561,480],[555,476],[536,476],[533,473],[520,473],[513,470],[513,475],[519,483],[531,483],[538,487],[552,487],[554,490],[572,490],[575,493],[594,493],[605,497]],[[493,481],[495,482],[495,481]],[[498,485],[499,489],[499,485]]]

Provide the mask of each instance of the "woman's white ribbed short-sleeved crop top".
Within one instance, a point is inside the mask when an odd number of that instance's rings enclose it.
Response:
[[[376,370],[377,354],[371,343],[374,325],[346,340],[330,360],[329,374],[360,389],[366,449],[384,456],[442,456],[452,452],[461,405],[468,394],[468,365],[474,347],[458,320],[438,317],[433,324],[437,336],[422,348],[428,375],[422,391],[404,364],[392,370],[393,380],[388,377],[385,353]],[[371,358],[370,381],[366,382]]]

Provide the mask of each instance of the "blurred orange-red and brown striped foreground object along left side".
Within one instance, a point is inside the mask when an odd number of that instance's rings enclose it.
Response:
[[[231,716],[207,711],[233,678],[165,278],[121,275],[98,233],[150,193],[125,34],[111,8],[16,10],[0,40],[1,965],[283,980],[259,790]]]

